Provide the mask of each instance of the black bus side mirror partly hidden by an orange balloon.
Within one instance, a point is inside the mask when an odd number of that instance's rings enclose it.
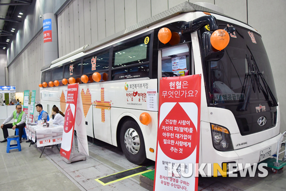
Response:
[[[224,49],[219,51],[216,50],[212,44],[211,44],[211,36],[213,32],[208,31],[204,32],[202,36],[203,41],[203,55],[205,61],[218,61],[220,60],[224,55]]]

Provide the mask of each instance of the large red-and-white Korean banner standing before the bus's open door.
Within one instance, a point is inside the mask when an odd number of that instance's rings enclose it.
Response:
[[[193,169],[199,163],[200,114],[201,75],[161,78],[154,191],[197,191]],[[173,171],[178,163],[192,175]]]

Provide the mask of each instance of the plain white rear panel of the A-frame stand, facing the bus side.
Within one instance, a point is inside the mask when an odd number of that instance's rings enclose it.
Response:
[[[83,106],[81,100],[81,93],[77,93],[76,116],[75,116],[75,130],[78,143],[78,152],[89,156],[87,134],[85,129],[85,120],[83,113]]]

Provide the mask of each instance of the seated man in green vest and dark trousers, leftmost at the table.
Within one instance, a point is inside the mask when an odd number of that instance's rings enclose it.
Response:
[[[13,123],[8,123],[12,118],[14,118]],[[22,106],[16,105],[16,111],[14,111],[8,118],[4,120],[3,124],[1,124],[4,140],[0,142],[4,143],[7,141],[7,137],[9,136],[7,128],[8,129],[19,128],[20,143],[22,143],[23,128],[26,126],[25,120],[26,120],[26,114],[25,112],[22,111]]]

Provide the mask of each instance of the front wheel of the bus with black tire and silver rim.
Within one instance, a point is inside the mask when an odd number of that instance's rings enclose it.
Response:
[[[120,145],[130,162],[140,165],[147,161],[143,134],[136,121],[128,119],[122,124]]]

